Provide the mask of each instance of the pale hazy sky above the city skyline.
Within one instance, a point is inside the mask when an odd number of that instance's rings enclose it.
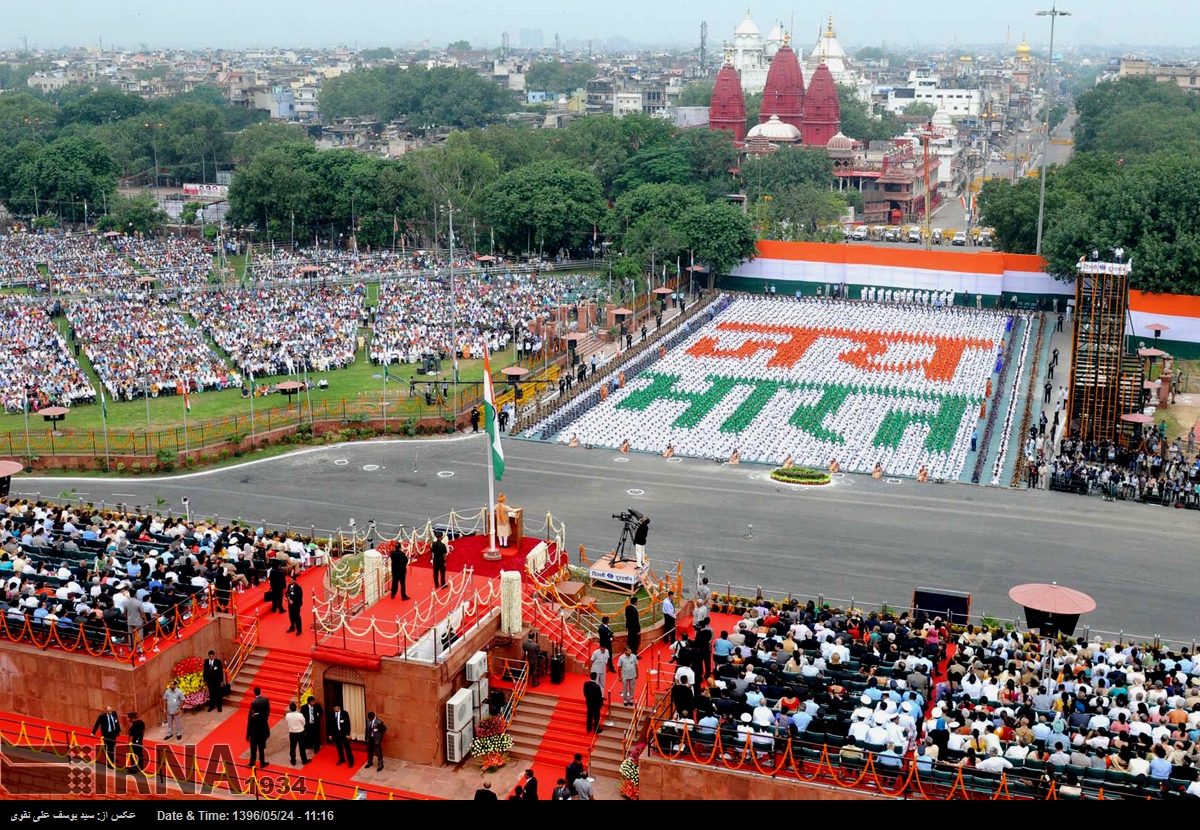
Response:
[[[42,48],[106,44],[150,47],[245,46],[398,46],[428,38],[499,46],[508,30],[516,46],[522,29],[541,29],[546,46],[563,40],[624,36],[635,43],[691,43],[708,22],[709,43],[732,40],[745,6],[719,0],[5,0],[0,44],[12,48],[28,37]],[[928,6],[894,0],[853,4],[751,2],[766,34],[774,20],[796,20],[804,49],[816,40],[829,10],[847,46],[1002,43],[1026,32],[1031,43],[1048,40],[1048,22],[1034,12],[1050,0],[946,2]],[[1072,44],[1195,46],[1200,34],[1196,0],[1067,0],[1074,16],[1060,19],[1056,41]],[[1152,13],[1148,13],[1150,10]],[[1056,49],[1057,50],[1057,49]]]

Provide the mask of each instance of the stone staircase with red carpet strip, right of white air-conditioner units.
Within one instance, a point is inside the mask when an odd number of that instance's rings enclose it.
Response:
[[[583,700],[529,691],[509,724],[509,734],[512,735],[510,754],[563,770],[578,752],[583,754],[583,763],[592,776],[617,778],[624,760],[622,741],[632,718],[634,708],[622,705],[618,699],[611,715],[606,712],[605,717],[613,724],[604,727],[595,746],[589,750],[593,735],[587,733]]]

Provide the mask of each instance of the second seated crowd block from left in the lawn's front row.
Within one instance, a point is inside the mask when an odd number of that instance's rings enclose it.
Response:
[[[72,337],[82,344],[109,397],[182,393],[242,385],[199,330],[155,301],[88,300],[67,306]]]

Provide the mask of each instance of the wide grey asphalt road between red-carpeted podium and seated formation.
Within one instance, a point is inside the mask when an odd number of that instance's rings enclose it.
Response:
[[[131,505],[161,497],[176,511],[187,495],[204,516],[305,528],[344,528],[353,516],[360,529],[374,518],[390,530],[481,505],[484,452],[481,435],[373,441],[176,479],[24,479],[13,489],[53,495],[74,487],[86,500]],[[1097,628],[1200,634],[1200,516],[1192,511],[860,476],[794,488],[756,465],[517,440],[505,452],[498,492],[523,506],[530,523],[546,511],[565,521],[575,549],[610,549],[620,530],[610,516],[634,507],[653,519],[652,559],[682,560],[685,573],[704,564],[721,585],[899,606],[914,587],[931,585],[971,591],[977,613],[1013,618],[1012,585],[1056,581],[1096,597],[1085,621]],[[751,540],[743,539],[748,524]]]

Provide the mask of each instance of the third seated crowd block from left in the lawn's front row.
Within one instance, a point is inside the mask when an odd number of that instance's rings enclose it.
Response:
[[[326,372],[354,362],[362,294],[348,285],[258,287],[197,294],[185,308],[244,372]]]

